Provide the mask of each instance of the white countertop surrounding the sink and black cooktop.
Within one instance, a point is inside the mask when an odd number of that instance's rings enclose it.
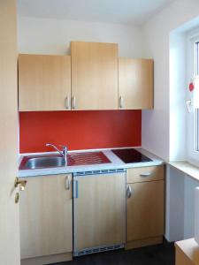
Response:
[[[58,167],[58,168],[48,168],[48,169],[36,169],[36,170],[19,170],[19,178],[25,177],[36,177],[36,176],[45,176],[45,175],[57,175],[57,174],[67,174],[67,173],[75,173],[82,171],[91,171],[91,170],[119,170],[119,169],[128,169],[128,168],[136,168],[136,167],[147,167],[147,166],[157,166],[164,164],[164,160],[157,157],[157,155],[153,155],[149,153],[147,150],[143,148],[134,148],[137,151],[141,152],[142,155],[148,156],[152,161],[150,162],[142,162],[142,163],[124,163],[119,157],[113,152],[111,149],[95,149],[88,150],[90,151],[102,151],[104,155],[106,155],[111,163],[103,163],[103,164],[92,164],[92,165],[80,165],[80,166],[66,166],[66,167]],[[87,150],[78,151],[78,152],[87,152]],[[73,153],[73,151],[69,151],[69,153]],[[77,153],[77,151],[75,151]],[[23,156],[27,155],[50,155],[57,154],[54,153],[37,153],[37,154],[23,154],[19,156],[19,163],[21,162]]]

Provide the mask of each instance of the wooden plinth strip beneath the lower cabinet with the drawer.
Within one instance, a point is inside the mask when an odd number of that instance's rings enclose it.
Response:
[[[142,246],[153,246],[163,244],[163,237],[156,237],[156,238],[149,238],[149,239],[142,239],[142,240],[134,240],[130,242],[126,242],[125,249],[134,249],[139,248]]]

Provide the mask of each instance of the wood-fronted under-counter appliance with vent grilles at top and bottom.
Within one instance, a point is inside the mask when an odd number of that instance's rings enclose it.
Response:
[[[126,170],[73,174],[73,255],[124,247]]]

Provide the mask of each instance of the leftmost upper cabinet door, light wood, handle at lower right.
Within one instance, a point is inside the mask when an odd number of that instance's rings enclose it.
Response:
[[[19,55],[19,111],[71,110],[71,57]]]

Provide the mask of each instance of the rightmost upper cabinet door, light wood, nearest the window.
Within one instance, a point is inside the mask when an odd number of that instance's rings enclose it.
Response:
[[[119,109],[153,109],[153,60],[119,58]]]

